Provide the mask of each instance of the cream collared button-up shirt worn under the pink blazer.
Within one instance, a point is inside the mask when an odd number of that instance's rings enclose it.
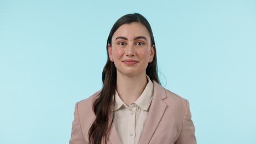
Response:
[[[153,99],[153,82],[147,76],[148,84],[139,98],[127,106],[115,91],[113,123],[123,144],[137,144],[148,117],[148,109]]]

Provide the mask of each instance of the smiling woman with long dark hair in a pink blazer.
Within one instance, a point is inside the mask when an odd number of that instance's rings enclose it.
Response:
[[[115,22],[103,88],[75,104],[69,144],[196,143],[188,100],[161,87],[152,29],[141,14]]]

